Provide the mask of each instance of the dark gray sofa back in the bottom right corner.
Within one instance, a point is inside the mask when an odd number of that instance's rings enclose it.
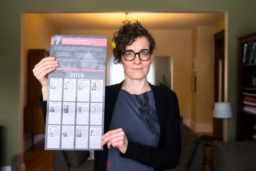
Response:
[[[255,170],[256,142],[215,141],[211,151],[211,170]]]

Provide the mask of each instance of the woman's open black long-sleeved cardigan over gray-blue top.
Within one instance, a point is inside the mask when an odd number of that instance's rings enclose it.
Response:
[[[105,87],[104,133],[110,129],[110,122],[122,82]],[[148,147],[135,142],[128,142],[126,153],[121,157],[129,158],[144,165],[154,167],[156,171],[174,168],[180,158],[180,114],[176,94],[172,90],[159,88],[150,84],[153,91],[160,137],[157,147]],[[44,119],[46,118],[46,102],[41,102]],[[108,147],[94,152],[94,170],[105,171],[108,159]]]

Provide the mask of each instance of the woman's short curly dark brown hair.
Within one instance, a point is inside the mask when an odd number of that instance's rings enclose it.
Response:
[[[112,41],[115,42],[116,47],[113,49],[114,63],[117,64],[121,61],[122,52],[126,46],[130,46],[136,41],[137,37],[146,37],[150,41],[150,51],[156,50],[156,43],[154,38],[148,31],[135,20],[133,24],[127,23],[120,27],[118,31],[114,33]]]

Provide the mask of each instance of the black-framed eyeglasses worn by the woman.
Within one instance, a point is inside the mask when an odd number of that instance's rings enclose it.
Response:
[[[134,60],[137,54],[139,55],[140,60],[147,61],[148,59],[150,59],[152,53],[153,52],[149,51],[149,50],[143,50],[143,51],[140,51],[137,53],[133,52],[133,51],[123,51],[122,52],[124,59],[127,61]]]

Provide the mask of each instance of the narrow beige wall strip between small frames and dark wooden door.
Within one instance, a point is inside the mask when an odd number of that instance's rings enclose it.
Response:
[[[193,58],[196,58],[197,91],[192,94],[191,127],[198,132],[212,131],[214,104],[214,27],[193,30]]]

